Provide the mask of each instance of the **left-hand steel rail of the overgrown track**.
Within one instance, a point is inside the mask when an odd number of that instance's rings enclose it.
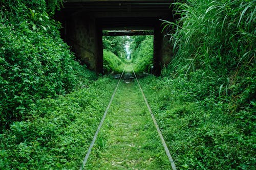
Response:
[[[124,72],[125,68],[126,68],[126,66],[124,67],[123,72]],[[98,126],[98,129],[97,129],[97,131],[96,131],[95,134],[94,134],[93,140],[92,140],[92,142],[91,142],[91,144],[90,144],[90,147],[89,147],[89,149],[88,149],[88,151],[87,151],[87,154],[86,154],[86,156],[84,157],[84,159],[83,159],[83,161],[82,161],[82,165],[81,165],[80,168],[79,168],[80,170],[82,170],[82,168],[84,167],[84,165],[86,165],[86,162],[87,162],[87,160],[88,160],[88,158],[89,158],[89,156],[90,156],[90,153],[91,153],[91,151],[92,151],[93,145],[94,145],[94,143],[95,143],[95,141],[96,141],[96,138],[97,138],[97,136],[98,136],[98,134],[99,134],[99,130],[100,130],[100,128],[102,127],[102,124],[103,124],[103,122],[104,122],[104,119],[105,119],[105,117],[106,117],[106,114],[108,113],[108,111],[109,111],[109,109],[110,109],[110,105],[111,105],[111,103],[112,103],[112,101],[113,101],[113,99],[114,99],[114,96],[115,96],[115,94],[116,94],[116,90],[117,90],[118,85],[119,85],[119,83],[120,83],[120,80],[121,80],[121,78],[122,78],[122,76],[123,76],[123,72],[122,72],[122,75],[120,76],[120,79],[119,79],[119,81],[118,81],[118,83],[117,83],[117,85],[116,85],[116,88],[115,88],[115,90],[114,90],[114,92],[113,92],[113,94],[112,94],[112,97],[111,97],[111,100],[110,100],[110,102],[109,102],[109,105],[108,105],[108,107],[106,107],[106,110],[105,110],[105,112],[104,112],[104,114],[103,114],[103,117],[102,117],[102,119],[101,119],[101,121],[100,121],[100,124],[99,124],[99,126]]]

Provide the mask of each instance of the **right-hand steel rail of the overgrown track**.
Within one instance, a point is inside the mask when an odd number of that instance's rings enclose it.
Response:
[[[133,69],[133,67],[132,67],[132,69]],[[165,140],[164,140],[164,138],[163,138],[163,135],[162,135],[162,133],[161,133],[161,131],[160,131],[160,129],[159,129],[159,126],[158,126],[158,124],[157,124],[156,118],[155,118],[155,116],[154,116],[154,114],[153,114],[153,112],[152,112],[152,110],[151,110],[150,105],[148,104],[148,102],[147,102],[147,100],[146,100],[146,96],[145,96],[145,94],[144,94],[144,92],[143,92],[143,90],[142,90],[142,88],[141,88],[141,86],[140,86],[140,83],[139,83],[139,81],[138,81],[138,79],[137,79],[137,76],[136,76],[136,74],[135,74],[135,72],[134,72],[134,69],[133,69],[133,74],[134,74],[134,76],[135,76],[135,78],[136,78],[136,80],[137,80],[137,83],[138,83],[139,88],[140,88],[140,91],[141,91],[141,93],[142,93],[142,95],[143,95],[143,98],[144,98],[144,101],[145,101],[146,106],[147,106],[147,108],[148,108],[148,111],[150,111],[151,117],[152,117],[153,122],[154,122],[154,124],[155,124],[155,126],[156,126],[158,135],[159,135],[159,137],[160,137],[160,139],[161,139],[161,142],[162,142],[162,144],[163,144],[165,153],[166,153],[166,155],[167,155],[167,157],[168,157],[168,159],[169,159],[169,161],[170,161],[170,164],[172,165],[173,170],[177,170],[177,168],[176,168],[176,166],[175,166],[175,163],[174,163],[174,160],[173,160],[172,156],[170,155],[170,151],[169,151],[169,149],[168,149],[168,147],[167,147],[167,145],[166,145],[166,143],[165,143]]]

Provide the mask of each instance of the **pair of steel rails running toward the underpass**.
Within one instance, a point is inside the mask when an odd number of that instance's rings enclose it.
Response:
[[[100,121],[100,124],[99,124],[99,126],[98,126],[98,128],[97,128],[97,131],[96,131],[95,134],[94,134],[93,140],[92,140],[92,142],[91,142],[91,144],[90,144],[90,146],[89,146],[89,149],[88,149],[88,151],[87,151],[87,154],[86,154],[86,156],[84,157],[84,159],[83,159],[83,161],[82,161],[82,165],[81,165],[80,168],[79,168],[80,170],[83,169],[83,167],[86,165],[86,163],[87,163],[87,161],[88,161],[88,158],[89,158],[89,156],[90,156],[90,153],[91,153],[91,151],[92,151],[92,148],[93,148],[93,146],[94,146],[94,143],[95,143],[95,141],[96,141],[96,138],[97,138],[97,136],[98,136],[98,134],[99,134],[99,131],[100,131],[100,129],[101,129],[102,125],[103,125],[103,122],[104,122],[104,120],[105,120],[106,114],[108,114],[108,111],[109,111],[109,109],[110,109],[110,106],[111,106],[111,104],[112,104],[112,101],[113,101],[113,99],[114,99],[114,96],[115,96],[115,94],[116,94],[116,91],[117,91],[117,89],[118,89],[119,83],[120,83],[120,81],[121,81],[121,79],[122,79],[122,77],[123,77],[123,75],[124,75],[125,68],[126,68],[126,66],[124,67],[124,69],[123,69],[123,71],[122,71],[122,74],[121,74],[121,76],[120,76],[120,78],[119,78],[119,81],[118,81],[118,83],[117,83],[117,85],[116,85],[116,88],[115,88],[115,90],[114,90],[114,92],[113,92],[113,94],[112,94],[112,97],[111,97],[111,100],[110,100],[110,102],[109,102],[109,105],[108,105],[108,107],[106,107],[106,110],[105,110],[105,112],[104,112],[104,114],[103,114],[103,116],[102,116],[102,119],[101,119],[101,121]],[[148,111],[149,111],[150,114],[151,114],[152,120],[153,120],[154,125],[155,125],[155,127],[156,127],[156,129],[157,129],[158,135],[159,135],[159,137],[160,137],[160,139],[161,139],[163,148],[164,148],[165,153],[166,153],[166,155],[167,155],[167,157],[168,157],[168,160],[169,160],[169,162],[170,162],[170,165],[172,166],[172,169],[173,169],[173,170],[176,170],[177,168],[176,168],[176,166],[175,166],[174,160],[173,160],[172,156],[170,155],[169,149],[168,149],[168,147],[167,147],[167,145],[166,145],[166,142],[165,142],[165,140],[164,140],[164,138],[163,138],[163,135],[162,135],[162,133],[161,133],[159,127],[158,127],[158,124],[157,124],[157,122],[156,122],[155,116],[154,116],[154,114],[153,114],[153,112],[152,112],[152,110],[151,110],[150,105],[148,104],[148,102],[147,102],[147,100],[146,100],[145,94],[144,94],[144,92],[143,92],[143,90],[142,90],[142,88],[141,88],[141,86],[140,86],[140,84],[139,84],[139,81],[138,81],[138,78],[137,78],[137,76],[136,76],[136,74],[135,74],[135,72],[134,72],[134,69],[132,68],[132,70],[133,70],[134,77],[135,77],[135,79],[136,79],[136,81],[137,81],[137,83],[138,83],[138,86],[139,86],[139,88],[140,88],[140,91],[141,91],[141,93],[142,93],[142,96],[143,96],[144,102],[145,102],[145,104],[146,104],[146,106],[147,106],[147,109],[148,109]]]

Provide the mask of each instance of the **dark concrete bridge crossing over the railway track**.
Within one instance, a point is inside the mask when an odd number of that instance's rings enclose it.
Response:
[[[72,47],[82,64],[103,72],[103,30],[154,31],[153,73],[172,58],[172,46],[164,38],[161,20],[174,20],[171,0],[66,0],[55,19],[62,23],[61,36]],[[129,35],[124,31],[123,35]]]

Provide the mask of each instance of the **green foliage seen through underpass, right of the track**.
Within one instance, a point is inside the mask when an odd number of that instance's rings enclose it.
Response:
[[[132,63],[136,72],[150,72],[153,66],[153,36],[135,36],[132,37]]]

